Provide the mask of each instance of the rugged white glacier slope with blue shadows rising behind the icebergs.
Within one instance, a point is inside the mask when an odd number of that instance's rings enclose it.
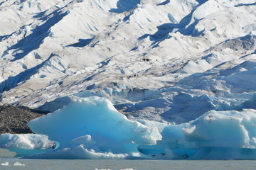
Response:
[[[0,104],[110,99],[184,123],[256,109],[255,0],[0,0]]]

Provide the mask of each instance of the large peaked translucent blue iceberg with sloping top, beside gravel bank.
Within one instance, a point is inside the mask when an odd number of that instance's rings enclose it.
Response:
[[[128,120],[109,100],[99,97],[73,97],[68,106],[36,118],[28,126],[58,143],[54,152],[36,155],[37,158],[141,157],[138,145],[154,145],[161,140],[157,128]]]

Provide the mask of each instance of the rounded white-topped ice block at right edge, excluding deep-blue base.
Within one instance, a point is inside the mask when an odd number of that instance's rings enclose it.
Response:
[[[256,111],[210,111],[183,128],[198,147],[256,148]]]

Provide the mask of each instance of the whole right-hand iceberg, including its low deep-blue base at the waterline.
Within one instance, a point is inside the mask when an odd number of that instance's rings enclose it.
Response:
[[[166,125],[157,145],[139,151],[155,159],[256,159],[256,111],[209,111],[190,123]]]

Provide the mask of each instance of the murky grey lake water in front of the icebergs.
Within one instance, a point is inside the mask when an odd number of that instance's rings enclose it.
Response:
[[[83,170],[161,170],[161,169],[256,169],[256,161],[244,160],[125,160],[125,159],[18,159],[0,150],[0,169],[83,169]]]

